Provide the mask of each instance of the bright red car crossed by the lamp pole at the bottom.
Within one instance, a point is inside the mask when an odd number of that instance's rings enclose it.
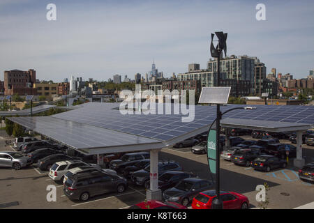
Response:
[[[211,202],[216,197],[215,190],[200,192],[193,199],[193,209],[211,209]],[[223,209],[248,209],[248,198],[236,192],[220,191],[220,198],[223,200]]]

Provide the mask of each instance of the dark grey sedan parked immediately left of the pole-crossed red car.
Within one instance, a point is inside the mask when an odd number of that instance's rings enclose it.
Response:
[[[181,203],[183,206],[188,206],[188,203],[190,203],[199,192],[213,188],[214,183],[209,180],[186,178],[181,180],[174,187],[165,190],[163,192],[163,199],[165,201],[177,202]]]

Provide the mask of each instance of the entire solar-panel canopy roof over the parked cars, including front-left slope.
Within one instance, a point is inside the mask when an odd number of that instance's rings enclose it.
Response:
[[[96,154],[111,153],[118,151],[118,149],[139,151],[158,146],[158,148],[163,148],[207,131],[209,125],[216,118],[216,106],[195,106],[194,121],[182,122],[182,115],[173,114],[174,105],[170,105],[172,114],[165,114],[166,106],[157,106],[156,111],[160,109],[162,114],[156,112],[157,114],[123,115],[119,112],[118,103],[89,102],[78,109],[50,117],[10,119],[70,147],[84,149],[85,153]],[[225,112],[227,109],[245,106],[228,105],[221,106],[220,109]],[[302,128],[308,128],[314,124],[314,107],[270,105],[257,105],[256,107],[255,110],[234,110],[225,114],[223,121],[227,118],[237,119],[239,125],[239,121],[246,120],[256,125],[263,123],[262,127],[268,126],[270,128],[271,126],[283,125],[285,125],[283,128],[287,128],[290,125],[291,131],[297,130],[301,125],[305,126]],[[129,109],[129,111],[135,113],[133,109]],[[146,111],[143,109],[142,112]],[[301,125],[295,123],[301,123]],[[108,130],[117,135],[117,142],[106,140]],[[73,132],[75,134],[72,134]],[[93,135],[100,138],[95,138]],[[134,141],[131,136],[141,140],[143,144]],[[130,138],[130,141],[122,138],[119,141],[120,137]],[[144,141],[144,139],[151,141]],[[119,144],[117,144],[118,142]]]

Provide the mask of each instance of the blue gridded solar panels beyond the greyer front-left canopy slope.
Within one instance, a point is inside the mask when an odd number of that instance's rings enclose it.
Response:
[[[246,105],[222,106],[221,111],[244,106]],[[53,117],[163,141],[207,127],[216,118],[216,106],[195,106],[195,119],[188,123],[181,121],[181,114],[165,114],[163,112],[163,114],[123,115],[119,109],[113,109],[114,107],[119,107],[119,104],[88,103],[80,109],[56,114]],[[311,106],[257,105],[256,107],[255,110],[234,110],[225,114],[223,118],[245,118],[246,120],[314,125],[314,107]],[[158,108],[156,108],[157,110]],[[163,111],[165,111],[165,107]],[[173,111],[172,105],[172,113]]]

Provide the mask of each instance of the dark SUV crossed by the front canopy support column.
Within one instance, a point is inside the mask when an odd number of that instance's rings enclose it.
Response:
[[[158,175],[165,173],[166,171],[171,170],[182,170],[182,167],[178,162],[175,161],[161,161],[158,162]],[[147,165],[144,169],[138,170],[131,174],[131,180],[136,185],[144,186],[149,189],[149,180],[150,180],[150,165]]]

